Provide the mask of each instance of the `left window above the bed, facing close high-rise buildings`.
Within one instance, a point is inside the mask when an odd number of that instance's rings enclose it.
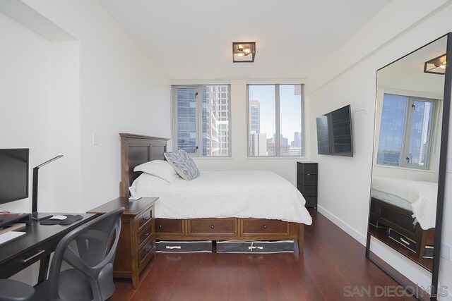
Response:
[[[230,86],[174,86],[177,149],[230,156]]]

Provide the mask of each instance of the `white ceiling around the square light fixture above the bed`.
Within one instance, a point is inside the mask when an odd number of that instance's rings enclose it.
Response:
[[[391,0],[98,1],[170,79],[206,80],[305,78]]]

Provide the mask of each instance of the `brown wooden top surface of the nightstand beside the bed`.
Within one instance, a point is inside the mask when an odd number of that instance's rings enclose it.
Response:
[[[136,214],[151,207],[157,199],[158,197],[141,197],[141,199],[136,201],[129,201],[128,197],[118,197],[117,199],[113,199],[110,202],[91,209],[87,213],[105,214],[119,207],[124,207],[123,215],[136,216]]]

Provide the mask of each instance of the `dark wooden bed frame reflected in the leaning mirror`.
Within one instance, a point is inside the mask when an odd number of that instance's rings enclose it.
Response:
[[[369,226],[375,227],[376,225],[374,225],[374,223],[378,223],[378,225],[386,227],[387,229],[392,228],[398,233],[405,235],[405,237],[410,238],[410,240],[413,240],[416,243],[415,252],[417,257],[423,258],[426,245],[434,245],[435,228],[423,230],[419,223],[415,223],[415,219],[412,215],[413,213],[410,210],[371,197],[371,224]],[[388,235],[387,231],[386,235]]]

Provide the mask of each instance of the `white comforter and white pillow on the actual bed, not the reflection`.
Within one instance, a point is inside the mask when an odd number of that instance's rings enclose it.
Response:
[[[159,197],[155,217],[198,219],[239,217],[312,223],[302,194],[270,171],[203,171],[194,180],[165,180],[141,174],[132,195]]]

